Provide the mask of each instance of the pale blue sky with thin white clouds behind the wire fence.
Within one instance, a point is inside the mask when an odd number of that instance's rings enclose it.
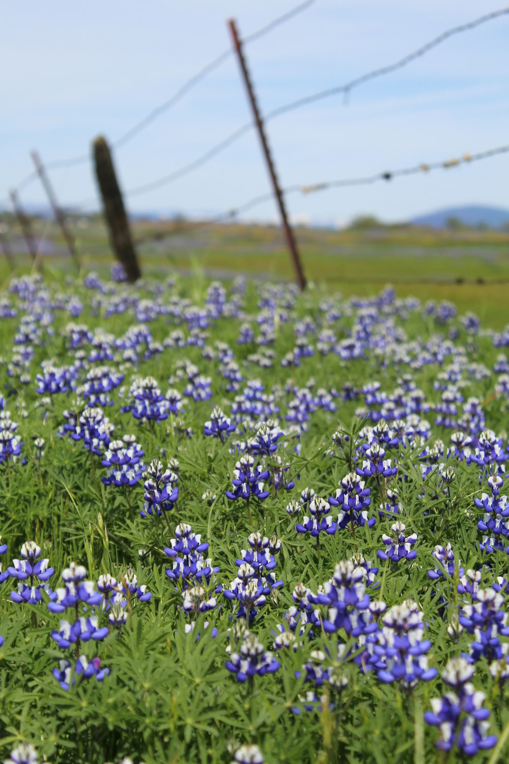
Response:
[[[0,199],[43,160],[84,154],[97,134],[113,141],[230,45],[227,18],[249,34],[296,0],[88,0],[9,3],[2,10]],[[501,6],[472,0],[316,0],[246,48],[264,112],[397,60],[441,31]],[[447,40],[404,70],[271,121],[283,186],[455,157],[509,143],[509,16]],[[125,189],[170,173],[250,120],[230,58],[175,108],[115,155]],[[359,189],[288,199],[292,215],[385,220],[442,206],[509,206],[509,155]],[[54,170],[62,203],[95,196],[89,165]],[[214,214],[269,190],[254,132],[205,167],[128,202],[131,211]],[[22,192],[43,202],[37,183]],[[275,219],[272,202],[246,214]]]

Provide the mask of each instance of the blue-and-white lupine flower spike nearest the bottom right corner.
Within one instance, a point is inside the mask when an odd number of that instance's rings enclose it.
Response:
[[[424,714],[427,724],[440,728],[437,749],[441,751],[456,746],[467,756],[475,756],[497,743],[495,735],[487,734],[490,712],[482,707],[485,693],[476,691],[469,681],[473,674],[473,666],[464,658],[450,659],[442,678],[451,690],[443,698],[432,698],[432,711]]]

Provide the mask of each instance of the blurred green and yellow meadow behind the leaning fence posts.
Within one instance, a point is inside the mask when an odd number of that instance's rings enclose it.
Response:
[[[185,220],[131,224],[143,274],[172,274],[229,280],[293,280],[282,232],[275,225],[199,225]],[[114,262],[108,234],[98,216],[72,222],[84,270],[108,273]],[[34,219],[41,261],[73,274],[56,223]],[[433,229],[395,225],[353,225],[343,230],[295,228],[304,271],[324,293],[372,295],[386,283],[398,296],[449,299],[459,312],[476,312],[483,324],[502,329],[509,322],[509,231]],[[31,270],[21,239],[11,241],[15,274]],[[2,282],[8,278],[2,261]]]

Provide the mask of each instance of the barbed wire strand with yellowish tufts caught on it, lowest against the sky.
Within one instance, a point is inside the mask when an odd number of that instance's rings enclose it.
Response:
[[[439,169],[450,170],[450,169],[453,169],[454,167],[459,167],[459,165],[462,165],[462,164],[470,164],[472,162],[478,162],[481,160],[498,156],[499,154],[507,154],[507,153],[509,153],[509,144],[504,146],[498,146],[495,148],[486,149],[485,151],[478,151],[475,154],[463,154],[462,157],[457,157],[457,158],[453,157],[451,159],[439,160],[439,161],[430,162],[430,163],[419,163],[419,164],[411,165],[410,167],[400,167],[397,170],[384,170],[382,172],[373,173],[372,175],[367,175],[367,176],[359,176],[356,178],[342,178],[340,180],[327,180],[321,183],[313,183],[313,184],[308,184],[304,186],[301,184],[295,183],[292,186],[286,186],[284,189],[282,189],[282,193],[285,196],[288,196],[290,194],[300,192],[307,196],[310,193],[325,191],[326,189],[330,189],[330,188],[342,188],[346,186],[368,186],[368,185],[372,185],[372,183],[379,183],[382,180],[385,182],[388,182],[390,180],[393,180],[394,178],[409,176],[409,175],[416,175],[420,173],[426,174],[426,173],[433,172],[433,170],[439,170]],[[161,237],[161,233],[159,231],[159,233],[155,233],[153,235],[147,236],[146,238],[143,238],[137,241],[137,244],[146,244],[149,241],[153,241],[154,239],[157,239],[160,241],[161,238],[166,238],[166,236],[182,234],[188,231],[194,231],[195,229],[198,229],[198,228],[204,228],[205,226],[208,226],[208,225],[215,225],[221,222],[227,222],[228,220],[236,218],[242,212],[247,212],[249,209],[253,209],[256,206],[259,206],[259,204],[263,204],[263,202],[268,202],[270,199],[274,199],[274,194],[272,192],[253,196],[252,199],[248,199],[248,201],[244,202],[240,206],[227,209],[225,212],[221,212],[219,215],[214,215],[214,217],[212,218],[199,220],[195,222],[189,222],[185,228],[179,228],[179,230],[168,232],[166,235],[163,235],[163,237]]]

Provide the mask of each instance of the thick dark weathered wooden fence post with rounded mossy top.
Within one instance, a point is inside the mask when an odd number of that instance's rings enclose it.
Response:
[[[124,208],[121,189],[115,175],[111,151],[105,138],[99,136],[94,141],[95,175],[101,191],[105,219],[108,224],[111,246],[118,261],[125,268],[127,279],[134,283],[141,276],[129,221]]]

